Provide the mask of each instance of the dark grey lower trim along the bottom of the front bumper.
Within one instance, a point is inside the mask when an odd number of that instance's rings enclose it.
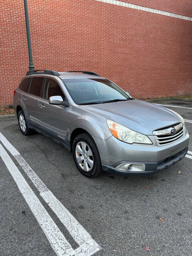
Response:
[[[112,174],[117,174],[121,176],[145,176],[145,175],[155,174],[179,162],[182,158],[184,158],[187,151],[188,151],[188,147],[181,150],[174,156],[166,158],[165,160],[160,162],[132,162],[135,164],[145,164],[144,172],[129,172],[129,171],[116,169],[116,166],[118,166],[121,163],[124,163],[125,161],[118,162],[114,164],[114,166],[108,166],[108,165],[102,164],[102,169],[106,172],[110,172]]]

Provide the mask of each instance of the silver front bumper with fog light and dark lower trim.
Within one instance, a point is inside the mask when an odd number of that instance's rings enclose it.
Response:
[[[186,155],[189,134],[171,144],[158,146],[153,136],[150,144],[128,144],[111,136],[107,140],[94,138],[102,163],[102,169],[122,176],[144,176],[160,172],[176,164]]]

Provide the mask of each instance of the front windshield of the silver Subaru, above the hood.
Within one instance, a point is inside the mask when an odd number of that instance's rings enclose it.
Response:
[[[62,82],[78,105],[130,100],[126,92],[108,79],[74,78],[63,79]]]

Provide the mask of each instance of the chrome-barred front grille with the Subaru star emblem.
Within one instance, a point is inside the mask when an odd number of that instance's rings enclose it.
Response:
[[[172,129],[176,130],[175,134],[170,134]],[[174,126],[158,129],[154,131],[153,134],[158,146],[164,146],[164,145],[176,142],[177,140],[180,140],[184,136],[184,126],[182,123],[175,124]],[[158,135],[158,134],[161,134],[161,135]]]

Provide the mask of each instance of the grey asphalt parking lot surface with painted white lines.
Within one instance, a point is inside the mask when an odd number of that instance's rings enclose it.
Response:
[[[66,148],[0,118],[0,255],[192,256],[192,102],[153,102],[187,120],[189,157],[144,177],[86,178]]]

